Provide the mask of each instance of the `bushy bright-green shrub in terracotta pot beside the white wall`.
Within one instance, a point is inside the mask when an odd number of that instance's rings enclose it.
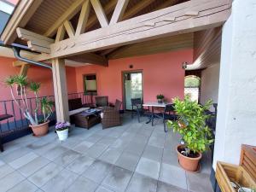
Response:
[[[212,105],[212,100],[202,106],[190,101],[189,96],[185,96],[183,101],[174,98],[173,104],[177,120],[169,120],[167,125],[182,136],[183,144],[177,146],[179,164],[187,171],[196,172],[201,154],[213,143],[212,132],[206,125],[206,120],[211,115],[205,113]]]

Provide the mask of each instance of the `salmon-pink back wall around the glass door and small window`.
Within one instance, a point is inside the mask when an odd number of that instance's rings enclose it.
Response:
[[[122,72],[143,69],[144,102],[156,101],[157,94],[163,94],[171,101],[183,97],[184,70],[182,62],[192,62],[193,49],[157,55],[145,55],[109,61],[108,67],[90,65],[77,67],[77,88],[84,90],[83,74],[96,73],[99,96],[108,96],[109,102],[122,100]],[[133,65],[130,69],[129,66]]]

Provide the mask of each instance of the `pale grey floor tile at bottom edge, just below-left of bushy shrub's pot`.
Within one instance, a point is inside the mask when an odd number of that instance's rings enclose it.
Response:
[[[181,167],[162,163],[159,180],[182,189],[187,189],[186,172]]]

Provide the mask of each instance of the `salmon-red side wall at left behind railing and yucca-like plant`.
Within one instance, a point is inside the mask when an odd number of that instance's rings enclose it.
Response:
[[[0,57],[0,101],[11,99],[9,88],[3,84],[3,80],[9,75],[15,75],[20,72],[19,67],[13,67],[12,62],[15,59]],[[69,93],[77,91],[76,71],[73,67],[67,67],[67,90]],[[41,83],[39,96],[54,95],[52,83],[52,73],[49,69],[43,67],[30,67],[27,72],[28,79]],[[33,96],[33,95],[29,95]]]

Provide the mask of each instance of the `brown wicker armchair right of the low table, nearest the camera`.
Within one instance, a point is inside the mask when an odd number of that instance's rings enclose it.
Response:
[[[114,108],[104,108],[102,114],[102,128],[108,128],[113,126],[122,125],[119,109],[121,108],[122,102],[119,100],[115,101]]]

